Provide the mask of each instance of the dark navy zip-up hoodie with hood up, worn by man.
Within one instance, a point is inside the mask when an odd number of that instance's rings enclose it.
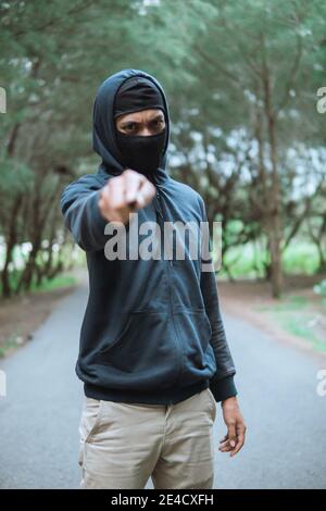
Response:
[[[117,402],[175,403],[208,387],[216,401],[237,394],[214,272],[200,259],[115,259],[105,257],[112,234],[98,207],[99,190],[124,171],[115,140],[114,96],[130,76],[146,76],[162,94],[166,146],[154,175],[156,196],[138,211],[143,222],[206,221],[201,196],[166,171],[170,114],[160,83],[139,70],[122,70],[99,87],[93,107],[93,149],[102,158],[97,173],[66,186],[64,222],[86,251],[89,297],[80,331],[76,373],[86,396]],[[129,229],[129,226],[127,226]],[[108,232],[106,232],[108,233]]]

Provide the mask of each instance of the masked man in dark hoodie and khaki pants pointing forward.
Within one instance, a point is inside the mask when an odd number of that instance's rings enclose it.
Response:
[[[164,244],[165,224],[208,221],[201,196],[170,177],[168,142],[162,86],[122,70],[93,105],[101,164],[61,196],[89,271],[76,363],[84,488],[142,488],[150,476],[155,488],[212,488],[216,402],[227,426],[220,450],[235,456],[244,443],[211,259],[203,270],[185,239],[183,258],[135,252],[149,225]]]

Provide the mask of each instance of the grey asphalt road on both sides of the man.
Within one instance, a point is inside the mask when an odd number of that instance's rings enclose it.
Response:
[[[83,384],[75,375],[87,283],[62,299],[34,340],[0,362],[0,488],[78,488]],[[223,310],[223,303],[222,303]],[[316,373],[326,358],[272,339],[224,314],[248,425],[237,457],[218,452],[215,488],[326,488],[326,397]],[[149,481],[148,488],[152,488]]]

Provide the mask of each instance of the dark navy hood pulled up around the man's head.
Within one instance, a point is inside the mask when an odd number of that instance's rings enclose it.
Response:
[[[126,68],[109,76],[98,88],[92,116],[92,147],[102,158],[100,169],[108,174],[118,175],[124,170],[123,155],[118,149],[115,128],[115,96],[121,86],[130,77],[143,77],[150,80],[160,91],[165,114],[165,147],[160,169],[154,176],[156,180],[166,177],[167,148],[170,144],[170,113],[166,97],[161,84],[152,75],[141,70]]]

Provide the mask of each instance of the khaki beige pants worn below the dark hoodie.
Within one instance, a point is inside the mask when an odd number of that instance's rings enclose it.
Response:
[[[80,488],[212,488],[216,408],[210,388],[166,406],[85,396]]]

